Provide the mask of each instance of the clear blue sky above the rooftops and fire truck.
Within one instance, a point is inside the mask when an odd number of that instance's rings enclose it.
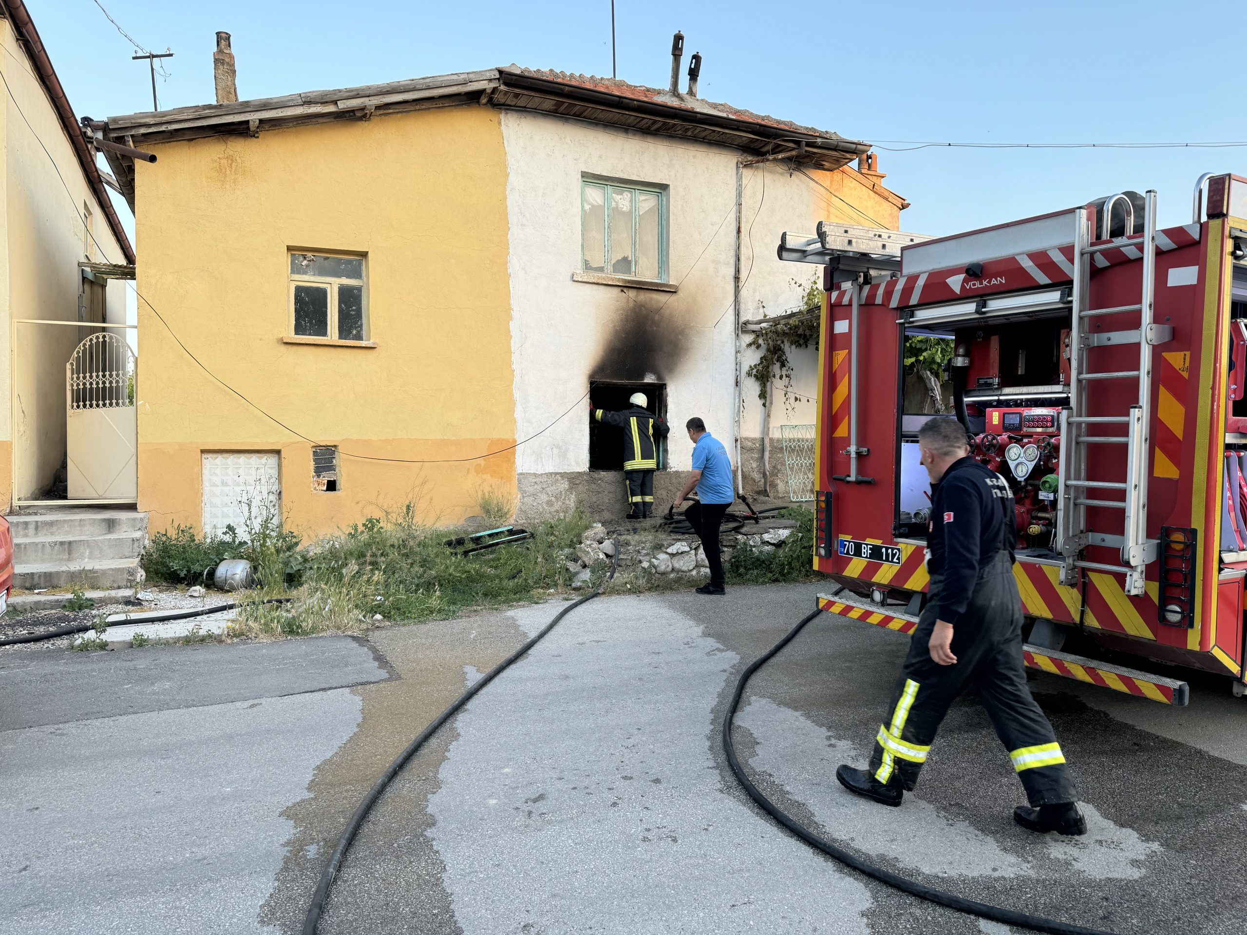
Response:
[[[610,1],[102,0],[143,46],[171,47],[161,107],[212,101],[214,34],[233,35],[241,97],[518,62],[610,75]],[[151,108],[146,62],[94,0],[26,0],[77,112]],[[1243,141],[1233,102],[1247,4],[641,2],[616,0],[619,76],[665,86],[671,34],[705,59],[701,95],[880,141],[908,231],[945,234],[1156,188],[1190,219],[1205,171],[1247,148],[892,152],[885,140]],[[1122,37],[1115,41],[1116,37]],[[128,223],[128,216],[127,216]]]

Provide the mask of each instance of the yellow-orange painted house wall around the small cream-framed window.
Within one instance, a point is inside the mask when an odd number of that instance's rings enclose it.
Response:
[[[398,506],[428,521],[515,490],[506,162],[499,116],[451,107],[151,147],[137,166],[138,509],[200,529],[203,451],[281,451],[288,525],[315,536]],[[286,344],[287,248],[368,256],[375,349]],[[312,489],[338,445],[340,491]]]

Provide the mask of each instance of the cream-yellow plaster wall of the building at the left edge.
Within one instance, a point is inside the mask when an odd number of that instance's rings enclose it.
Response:
[[[0,44],[9,86],[0,89],[0,381],[9,395],[0,405],[0,510],[7,510],[14,495],[41,495],[65,458],[65,364],[89,333],[11,319],[76,322],[79,262],[126,258],[7,20]],[[108,320],[123,319],[123,290],[120,282],[108,287]]]

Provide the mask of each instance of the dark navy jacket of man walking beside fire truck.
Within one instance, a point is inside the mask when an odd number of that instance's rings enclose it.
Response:
[[[939,618],[956,623],[970,603],[979,570],[999,551],[1014,560],[1018,527],[1013,491],[990,467],[963,458],[949,465],[932,495],[928,571],[944,578]]]

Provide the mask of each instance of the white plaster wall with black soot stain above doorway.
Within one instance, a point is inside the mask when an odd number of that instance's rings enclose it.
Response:
[[[731,448],[738,153],[511,111],[503,112],[503,138],[509,171],[516,438],[529,438],[554,423],[589,389],[591,378],[632,381],[636,374],[612,373],[609,350],[653,317],[663,335],[653,353],[653,376],[667,384],[673,426],[670,466],[690,467],[692,446],[682,426],[691,415],[701,415]],[[677,293],[572,280],[580,269],[582,173],[670,186],[668,269],[671,280],[680,283]],[[744,170],[744,318],[758,317],[759,303],[772,313],[792,307],[803,285],[821,274],[819,267],[781,262],[776,247],[784,229],[813,232],[824,216],[824,202],[826,193],[809,180],[777,165]],[[803,285],[793,285],[794,278]],[[753,355],[748,352],[746,363]],[[793,358],[799,370],[793,389],[814,396],[814,353],[798,352]],[[752,380],[746,380],[743,395],[742,434],[757,435],[761,406]],[[813,421],[812,405],[798,401],[791,415],[773,418],[774,433],[781,421]],[[587,425],[585,401],[540,439],[521,445],[516,470],[587,470]]]

